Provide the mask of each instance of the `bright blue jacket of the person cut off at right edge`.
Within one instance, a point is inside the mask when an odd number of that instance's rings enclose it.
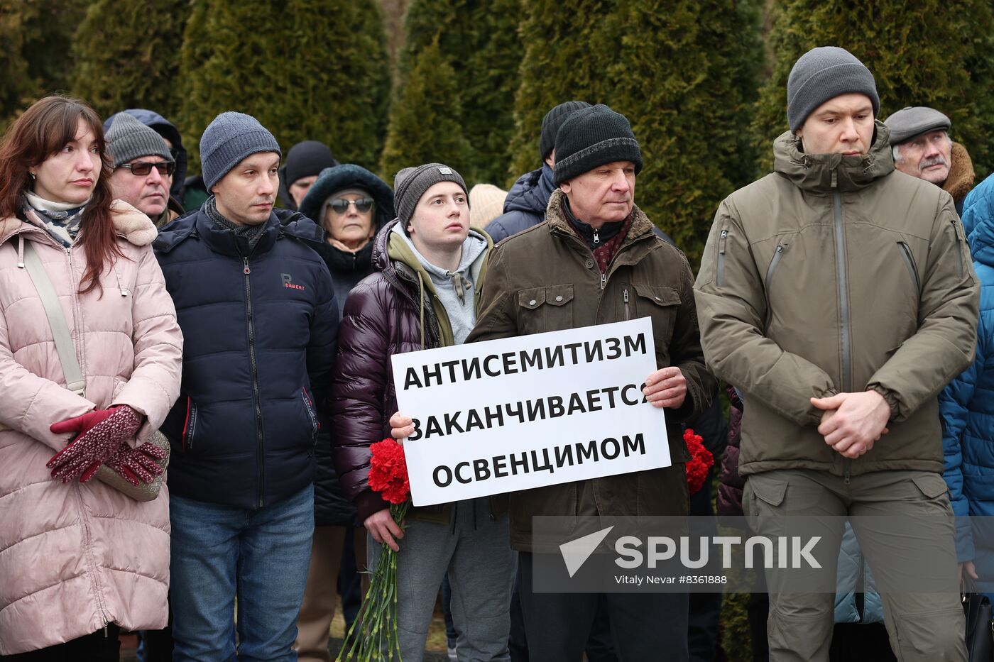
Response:
[[[980,321],[973,364],[939,396],[945,481],[957,516],[994,515],[994,177],[970,192],[963,204],[963,226],[980,279]],[[956,555],[974,560],[981,579],[994,579],[994,558],[975,554],[994,549],[994,532],[972,532],[957,522]],[[982,586],[994,589],[994,584]]]

